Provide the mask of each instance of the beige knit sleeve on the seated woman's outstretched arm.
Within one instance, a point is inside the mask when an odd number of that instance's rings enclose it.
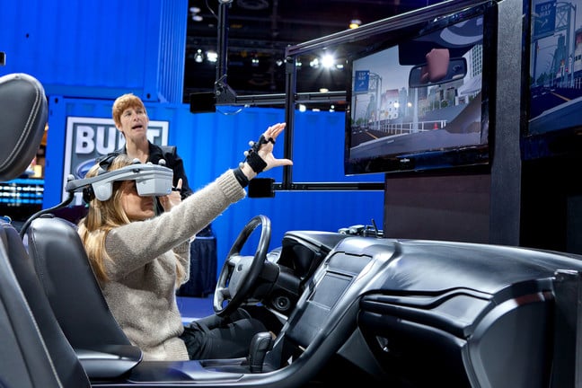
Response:
[[[231,204],[241,200],[246,191],[236,181],[233,170],[196,191],[172,211],[154,218],[132,222],[112,229],[105,239],[105,260],[111,279],[128,273],[171,251],[208,225]]]

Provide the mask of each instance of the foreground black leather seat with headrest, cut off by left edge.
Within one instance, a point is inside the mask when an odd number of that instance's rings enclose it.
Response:
[[[48,118],[44,88],[31,75],[0,77],[0,181],[24,172]],[[40,288],[20,235],[0,221],[0,386],[88,387]]]

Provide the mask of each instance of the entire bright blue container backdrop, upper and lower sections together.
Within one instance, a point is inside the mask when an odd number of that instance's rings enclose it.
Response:
[[[192,114],[181,103],[187,0],[0,0],[0,9],[0,50],[6,52],[0,75],[28,73],[48,94],[43,207],[57,204],[63,189],[66,118],[110,119],[111,104],[122,93],[140,96],[150,119],[169,122],[168,143],[178,145],[194,189],[235,167],[249,140],[285,118],[284,110],[267,108],[238,112],[222,107]],[[343,175],[343,120],[338,112],[297,113],[294,181],[384,181],[384,175]],[[283,156],[283,142],[276,154]],[[263,176],[280,182],[282,171]],[[382,226],[383,207],[383,191],[293,191],[246,198],[213,223],[218,268],[242,226],[257,214],[271,218],[271,247],[276,247],[291,229],[336,231],[370,224],[372,218]]]

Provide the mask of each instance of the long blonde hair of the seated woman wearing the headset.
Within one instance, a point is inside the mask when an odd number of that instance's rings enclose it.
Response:
[[[110,163],[107,171],[117,170],[132,163],[133,160],[127,154],[119,154]],[[87,172],[85,178],[97,176],[100,168],[99,164],[95,164]],[[105,270],[105,260],[111,260],[105,251],[105,238],[111,229],[131,223],[121,203],[123,190],[119,190],[123,184],[127,184],[126,182],[128,181],[114,181],[113,193],[107,200],[91,199],[87,216],[79,221],[78,233],[81,236],[93,272],[101,283],[109,280]],[[184,273],[179,261],[176,261],[177,284],[179,279],[183,278]]]

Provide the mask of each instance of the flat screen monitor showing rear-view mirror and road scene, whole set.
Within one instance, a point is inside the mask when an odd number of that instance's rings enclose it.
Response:
[[[497,6],[370,37],[348,56],[344,172],[489,169]]]

